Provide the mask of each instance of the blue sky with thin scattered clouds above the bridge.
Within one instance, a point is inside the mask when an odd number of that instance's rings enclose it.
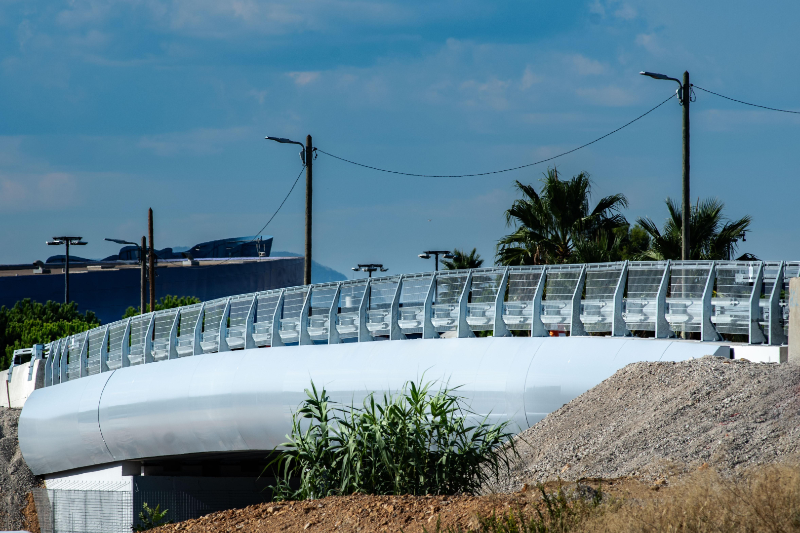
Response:
[[[73,233],[105,257],[116,237],[159,248],[251,235],[300,171],[302,140],[412,173],[538,161],[617,128],[674,92],[652,70],[800,110],[797,2],[126,0],[0,3],[0,262],[44,259]],[[800,116],[698,91],[692,196],[754,217],[742,251],[798,259]],[[629,221],[680,195],[681,111],[648,117],[556,161]],[[314,259],[341,272],[432,269],[423,249],[478,248],[509,231],[514,179],[399,177],[320,155]],[[302,181],[301,181],[302,184]],[[264,233],[302,252],[298,186]],[[490,262],[487,261],[487,262]]]

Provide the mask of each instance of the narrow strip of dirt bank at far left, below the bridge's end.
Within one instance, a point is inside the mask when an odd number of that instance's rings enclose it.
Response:
[[[38,531],[31,491],[39,479],[31,473],[17,440],[20,409],[0,408],[0,527]]]

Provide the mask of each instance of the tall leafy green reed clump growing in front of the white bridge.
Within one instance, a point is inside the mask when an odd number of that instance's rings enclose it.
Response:
[[[292,415],[290,440],[267,467],[277,466],[275,499],[474,493],[507,472],[516,454],[506,444],[510,422],[470,425],[474,413],[454,389],[431,387],[410,381],[382,402],[370,394],[355,408],[331,404],[312,383]],[[297,490],[292,478],[299,478]]]

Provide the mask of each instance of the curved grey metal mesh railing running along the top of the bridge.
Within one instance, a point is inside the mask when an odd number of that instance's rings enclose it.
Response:
[[[45,384],[168,359],[174,350],[178,356],[218,352],[221,332],[224,350],[294,344],[301,333],[304,343],[320,344],[378,339],[396,328],[409,336],[437,336],[465,323],[473,331],[493,330],[495,316],[508,329],[533,335],[655,330],[663,337],[671,330],[700,332],[706,341],[726,334],[781,344],[789,328],[789,280],[798,275],[800,261],[633,261],[422,272],[277,289],[135,316],[58,340],[48,350]],[[580,309],[574,309],[578,299]],[[334,327],[338,335],[331,336]]]

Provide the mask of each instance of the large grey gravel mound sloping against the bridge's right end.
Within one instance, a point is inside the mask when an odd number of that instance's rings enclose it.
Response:
[[[497,491],[548,479],[642,481],[798,460],[800,367],[706,356],[629,364],[517,437]]]

